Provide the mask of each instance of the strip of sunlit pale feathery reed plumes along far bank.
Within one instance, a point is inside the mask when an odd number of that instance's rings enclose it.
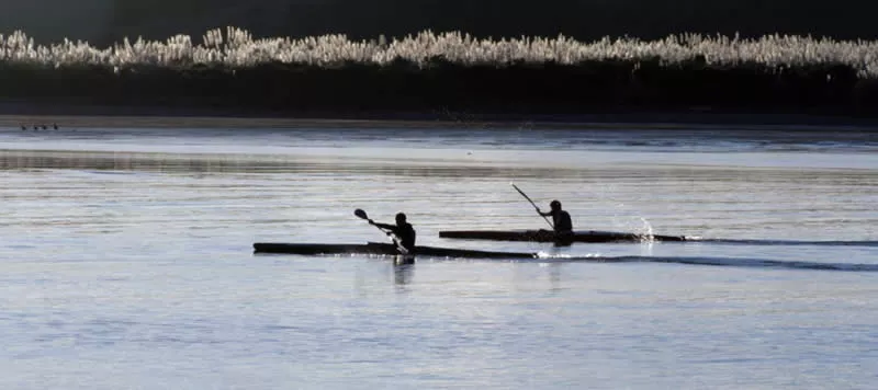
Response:
[[[460,33],[424,31],[390,42],[350,41],[345,35],[293,39],[259,38],[244,30],[207,31],[202,42],[176,35],[165,42],[125,38],[99,48],[87,42],[65,39],[35,45],[24,32],[0,35],[0,61],[52,67],[111,66],[211,66],[228,69],[263,64],[295,64],[337,67],[345,64],[386,66],[404,60],[426,67],[441,58],[454,65],[511,64],[577,65],[589,61],[639,61],[660,59],[663,66],[703,61],[709,67],[756,65],[768,69],[841,65],[855,69],[860,78],[878,78],[878,42],[835,41],[811,36],[768,35],[758,39],[738,36],[672,35],[661,41],[605,37],[578,42],[563,35],[553,38],[520,37],[476,39]]]

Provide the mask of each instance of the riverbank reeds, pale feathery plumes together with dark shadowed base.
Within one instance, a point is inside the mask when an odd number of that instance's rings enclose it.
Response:
[[[33,103],[221,107],[288,114],[358,111],[578,114],[731,110],[876,115],[878,43],[695,34],[384,42],[341,35],[200,44],[127,39],[108,48],[0,37],[0,97]]]

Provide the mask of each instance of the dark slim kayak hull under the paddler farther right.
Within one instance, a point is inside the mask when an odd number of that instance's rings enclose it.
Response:
[[[576,231],[559,236],[550,230],[444,230],[439,237],[446,239],[491,240],[491,241],[532,241],[532,242],[643,242],[643,241],[686,241],[684,236],[645,236],[614,231]]]

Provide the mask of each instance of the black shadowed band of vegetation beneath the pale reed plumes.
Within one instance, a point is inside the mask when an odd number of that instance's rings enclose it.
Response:
[[[691,61],[595,61],[464,67],[440,58],[421,69],[347,64],[335,68],[266,64],[236,69],[0,67],[0,99],[36,105],[221,110],[229,113],[346,116],[469,112],[578,115],[689,111],[878,116],[878,84],[845,66],[710,68]]]

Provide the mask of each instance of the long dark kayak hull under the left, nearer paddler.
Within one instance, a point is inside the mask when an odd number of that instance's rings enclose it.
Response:
[[[257,242],[254,253],[284,253],[302,255],[338,255],[338,254],[365,254],[365,255],[399,255],[396,245],[389,243],[369,242],[367,244],[319,244],[319,243],[271,243]],[[493,252],[468,249],[451,249],[437,246],[415,246],[412,255],[455,257],[455,259],[534,259],[536,253],[525,252]]]

